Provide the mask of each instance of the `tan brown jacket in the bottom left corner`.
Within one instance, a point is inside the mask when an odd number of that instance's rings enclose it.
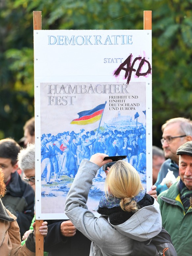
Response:
[[[30,234],[26,244],[21,246],[16,216],[4,207],[0,199],[0,255],[35,256],[34,251],[35,242],[33,241],[33,234]]]

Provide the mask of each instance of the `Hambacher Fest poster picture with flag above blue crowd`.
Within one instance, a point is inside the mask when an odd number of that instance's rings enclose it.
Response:
[[[65,107],[58,92],[68,85],[59,83],[56,88],[51,83],[41,84],[42,212],[63,212],[80,162],[97,152],[126,155],[124,160],[135,167],[146,188],[145,83],[130,83],[129,87],[119,83],[119,87],[124,86],[123,93],[108,91],[92,96],[92,101],[88,100],[90,95],[78,95],[78,90],[75,94],[75,84],[71,83],[71,106]],[[136,86],[137,93],[132,94]],[[87,203],[93,212],[103,194],[105,177],[100,168],[93,179]]]

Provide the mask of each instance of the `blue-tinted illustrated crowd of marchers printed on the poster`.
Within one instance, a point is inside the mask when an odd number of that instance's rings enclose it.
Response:
[[[43,134],[41,137],[42,179],[47,184],[60,181],[60,174],[75,177],[82,159],[89,160],[97,153],[110,156],[125,155],[126,161],[138,172],[146,171],[146,131],[144,127],[124,132],[108,129],[96,133],[84,129],[80,133],[63,132],[57,135]],[[98,173],[98,177],[102,177]]]

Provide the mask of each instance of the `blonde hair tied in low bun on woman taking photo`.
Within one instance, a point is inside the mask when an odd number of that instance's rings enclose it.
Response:
[[[138,207],[132,198],[138,195],[141,189],[143,186],[140,176],[131,164],[119,160],[112,165],[105,180],[106,197],[108,194],[120,198],[122,210],[135,212]]]

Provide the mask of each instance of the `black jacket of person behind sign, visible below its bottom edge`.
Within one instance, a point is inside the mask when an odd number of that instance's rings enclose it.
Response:
[[[44,251],[48,256],[89,256],[91,241],[79,230],[73,237],[61,235],[60,226],[65,220],[47,220],[48,234],[45,237]]]

